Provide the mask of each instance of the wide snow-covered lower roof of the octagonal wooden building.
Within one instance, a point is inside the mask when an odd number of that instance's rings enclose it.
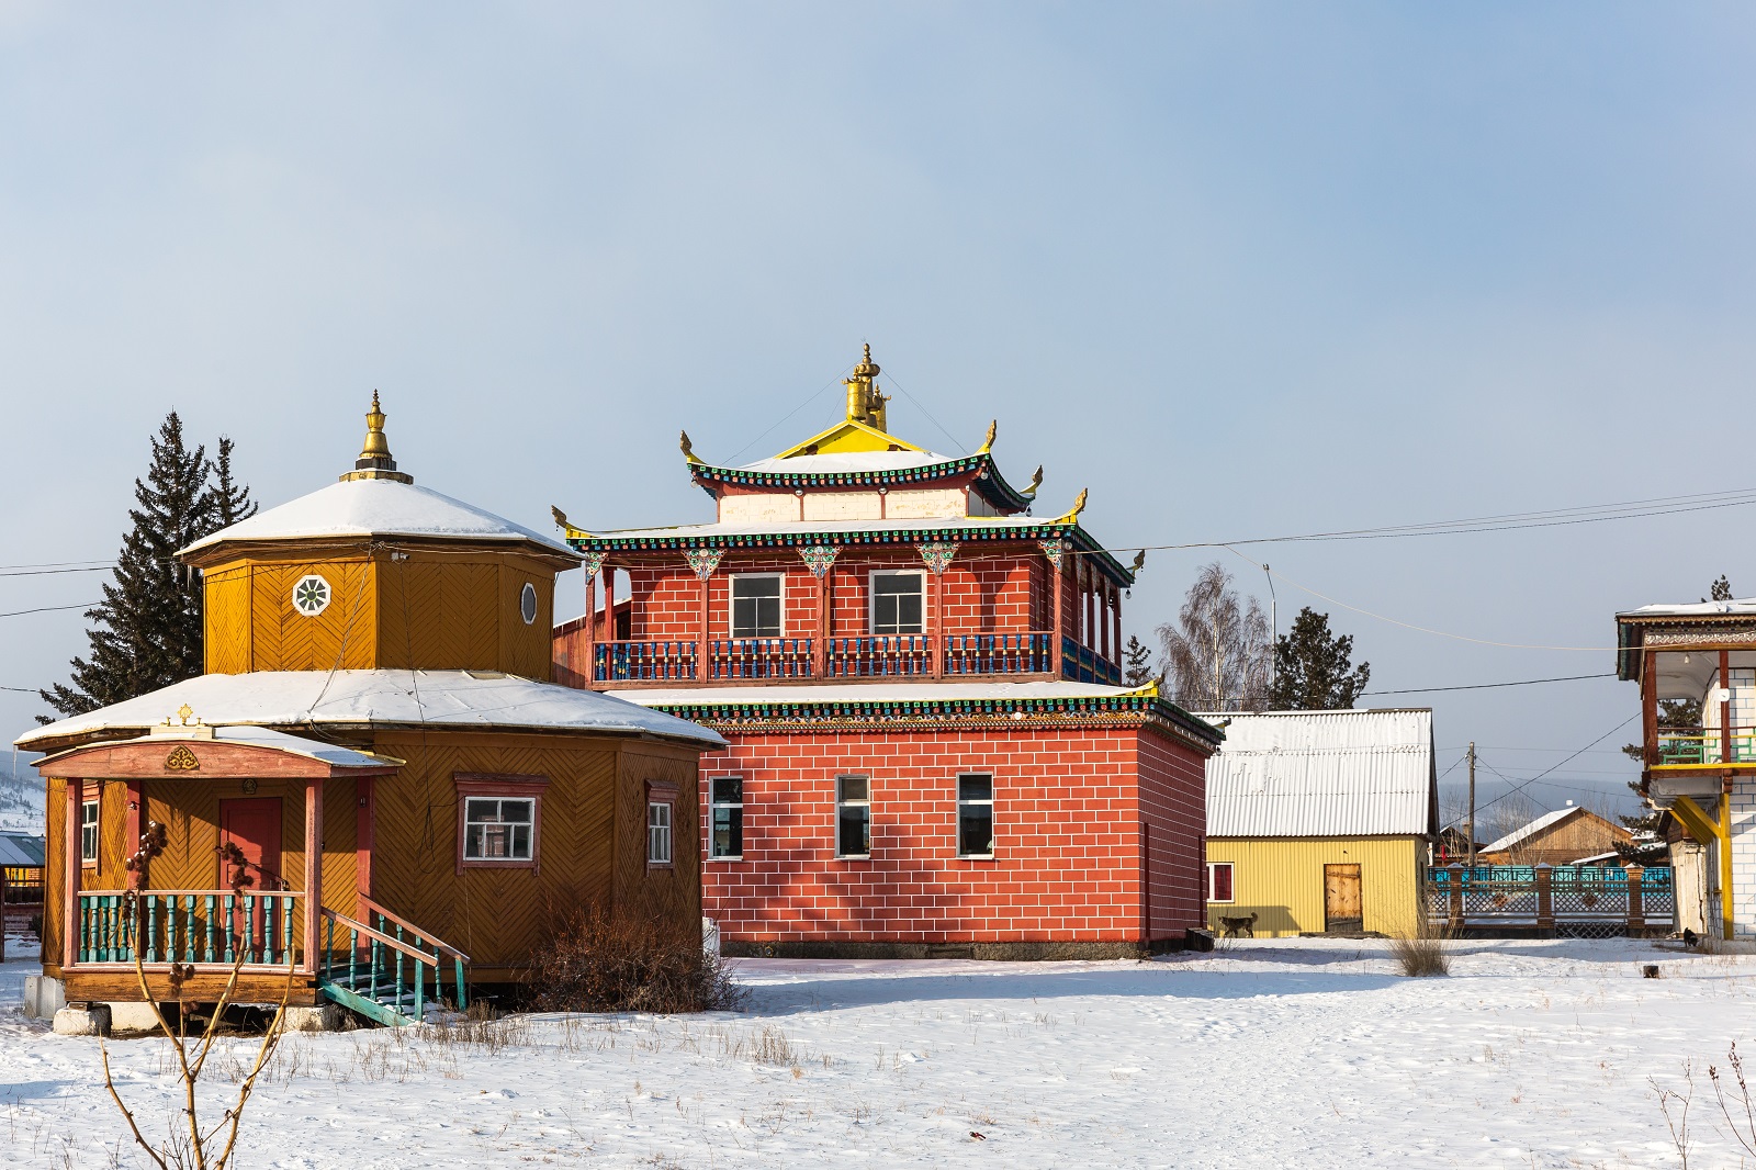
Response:
[[[725,741],[681,719],[594,690],[495,671],[258,671],[200,675],[137,699],[37,727],[18,747],[111,729],[149,729],[188,704],[211,727],[518,727]]]

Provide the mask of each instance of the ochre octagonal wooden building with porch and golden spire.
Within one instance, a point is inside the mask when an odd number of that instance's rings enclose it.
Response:
[[[212,1001],[242,963],[241,1001],[291,977],[293,1005],[395,1024],[518,980],[574,906],[699,929],[697,764],[723,741],[555,685],[579,555],[414,485],[376,395],[367,420],[339,483],[181,550],[204,675],[19,736],[67,1001],[137,1001],[137,956],[155,996],[188,964]]]

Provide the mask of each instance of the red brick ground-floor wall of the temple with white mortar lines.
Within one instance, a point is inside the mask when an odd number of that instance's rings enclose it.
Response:
[[[1152,936],[1180,936],[1203,921],[1192,896],[1203,764],[1155,733],[727,738],[729,750],[702,757],[701,776],[704,785],[745,776],[745,859],[702,866],[702,914],[729,940],[1136,942],[1141,787],[1154,826]],[[1150,775],[1136,785],[1141,761]],[[992,861],[957,857],[961,771],[994,776]],[[846,773],[871,776],[871,859],[836,857],[834,791]],[[704,815],[706,806],[704,787]]]

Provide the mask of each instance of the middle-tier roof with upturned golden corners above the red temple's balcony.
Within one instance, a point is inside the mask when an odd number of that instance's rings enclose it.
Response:
[[[1071,546],[1073,555],[1089,557],[1105,576],[1133,589],[1134,573],[1110,555],[1078,520],[1036,520],[1031,516],[946,516],[932,520],[817,520],[774,524],[687,524],[667,529],[625,529],[620,532],[579,532],[571,529],[567,543],[581,553],[683,552],[690,548],[813,548],[920,545],[927,541],[1047,541]],[[1047,552],[1047,550],[1045,550]]]

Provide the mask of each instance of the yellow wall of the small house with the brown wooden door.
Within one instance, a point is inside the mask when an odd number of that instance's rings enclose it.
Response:
[[[1363,928],[1382,935],[1415,929],[1421,857],[1414,836],[1208,838],[1208,863],[1233,864],[1233,901],[1208,903],[1208,928],[1220,917],[1256,914],[1259,938],[1324,929],[1324,866],[1357,864]]]

